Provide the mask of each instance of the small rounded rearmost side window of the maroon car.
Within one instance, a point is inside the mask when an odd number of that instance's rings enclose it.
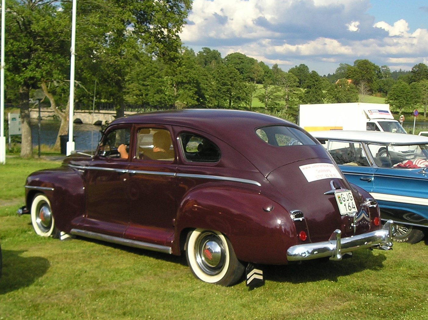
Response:
[[[184,158],[188,161],[217,162],[220,160],[220,149],[214,142],[192,133],[181,133],[180,142]]]

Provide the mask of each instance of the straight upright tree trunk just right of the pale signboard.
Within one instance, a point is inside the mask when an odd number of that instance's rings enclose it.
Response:
[[[19,88],[19,113],[21,116],[21,157],[32,158],[33,157],[33,139],[31,139],[31,127],[30,127],[30,87],[22,85]]]

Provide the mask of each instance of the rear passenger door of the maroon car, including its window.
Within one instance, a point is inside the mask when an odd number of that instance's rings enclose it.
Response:
[[[174,233],[177,160],[171,128],[135,128],[128,181],[129,226],[125,237],[165,245]]]

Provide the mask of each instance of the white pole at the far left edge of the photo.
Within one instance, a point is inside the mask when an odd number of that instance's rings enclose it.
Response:
[[[4,38],[6,0],[1,2],[1,71],[0,71],[0,163],[6,163],[6,137],[4,136]]]

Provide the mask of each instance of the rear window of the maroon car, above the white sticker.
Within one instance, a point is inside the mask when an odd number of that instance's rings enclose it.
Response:
[[[286,145],[316,145],[303,131],[287,126],[261,127],[256,130],[257,136],[266,143],[278,147]]]

